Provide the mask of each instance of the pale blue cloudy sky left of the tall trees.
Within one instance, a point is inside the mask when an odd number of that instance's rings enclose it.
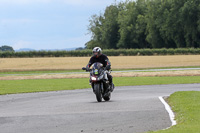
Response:
[[[15,50],[84,47],[90,40],[89,18],[114,2],[0,0],[0,46],[9,45]]]

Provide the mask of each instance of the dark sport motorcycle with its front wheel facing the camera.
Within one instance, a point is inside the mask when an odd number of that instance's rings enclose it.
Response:
[[[102,98],[105,101],[109,101],[111,98],[111,91],[114,89],[114,84],[110,85],[107,77],[107,73],[110,73],[110,71],[106,70],[103,64],[99,62],[94,63],[92,69],[87,70],[83,67],[82,70],[90,72],[90,85],[93,88],[97,101],[102,102]]]

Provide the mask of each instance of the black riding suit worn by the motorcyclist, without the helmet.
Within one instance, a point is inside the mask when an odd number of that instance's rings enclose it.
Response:
[[[90,58],[89,63],[87,64],[86,68],[89,69],[90,66],[95,62],[102,63],[103,67],[108,68],[107,70],[111,69],[111,63],[110,63],[108,57],[106,55],[104,55],[104,54],[101,54],[99,57],[92,56]],[[112,76],[109,73],[108,73],[108,80],[109,80],[110,84],[112,84]]]

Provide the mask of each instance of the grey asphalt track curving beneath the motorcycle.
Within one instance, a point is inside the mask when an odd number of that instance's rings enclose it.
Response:
[[[0,96],[1,133],[141,133],[171,126],[159,100],[200,84],[116,87],[110,102],[91,89]]]

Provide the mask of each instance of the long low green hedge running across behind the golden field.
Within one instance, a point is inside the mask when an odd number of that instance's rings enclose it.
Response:
[[[199,55],[198,49],[107,49],[103,53],[108,56],[142,56],[142,55]],[[91,50],[76,51],[29,51],[29,52],[0,52],[0,58],[25,57],[82,57],[91,56]]]

